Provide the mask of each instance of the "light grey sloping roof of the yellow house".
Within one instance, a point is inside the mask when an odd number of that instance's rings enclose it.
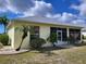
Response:
[[[34,22],[34,23],[44,23],[44,24],[53,24],[53,25],[64,25],[64,26],[72,26],[72,27],[79,27],[84,28],[85,26],[83,25],[77,25],[77,24],[70,24],[70,23],[61,23],[57,22],[56,20],[51,18],[45,18],[44,17],[21,17],[21,18],[15,18],[14,21],[25,21],[25,22]],[[56,21],[56,22],[54,22]]]

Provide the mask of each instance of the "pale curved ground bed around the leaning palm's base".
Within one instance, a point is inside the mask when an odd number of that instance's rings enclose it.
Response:
[[[3,47],[2,49],[0,49],[0,54],[19,54],[19,53],[23,53],[23,52],[27,52],[28,50],[20,50],[20,51],[15,51],[14,49],[12,49],[11,47]]]

